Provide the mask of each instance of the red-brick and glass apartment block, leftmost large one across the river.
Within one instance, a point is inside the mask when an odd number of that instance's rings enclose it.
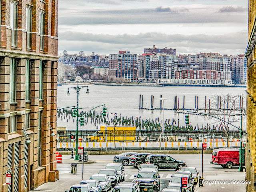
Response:
[[[137,80],[137,54],[130,54],[130,51],[119,51],[119,54],[110,54],[109,69],[116,70],[116,78],[124,78],[128,81]]]

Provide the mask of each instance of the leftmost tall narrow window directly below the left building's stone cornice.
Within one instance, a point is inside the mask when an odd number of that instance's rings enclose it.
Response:
[[[10,102],[16,102],[16,59],[11,58],[10,64]]]

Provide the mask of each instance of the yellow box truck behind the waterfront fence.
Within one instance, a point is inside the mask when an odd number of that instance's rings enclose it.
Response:
[[[87,136],[87,141],[91,142],[134,142],[135,126],[100,126],[100,130]]]

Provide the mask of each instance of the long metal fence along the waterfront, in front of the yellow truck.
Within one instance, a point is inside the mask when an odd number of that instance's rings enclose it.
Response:
[[[58,131],[58,139],[62,142],[72,142],[70,135],[76,136],[75,130]],[[88,137],[89,136],[89,137]],[[100,130],[79,130],[78,139],[84,142],[95,142],[96,140],[90,140],[90,136],[104,136],[108,140],[104,142],[112,142],[116,138],[116,142],[226,142],[227,138],[224,131],[221,130],[166,130],[162,135],[161,130],[146,131],[118,131],[114,132],[100,132]],[[129,138],[129,139],[127,139]],[[230,130],[228,131],[228,140],[230,142],[238,142],[240,138],[240,131]],[[243,138],[245,138],[245,131],[243,131]],[[75,138],[76,139],[76,138]]]

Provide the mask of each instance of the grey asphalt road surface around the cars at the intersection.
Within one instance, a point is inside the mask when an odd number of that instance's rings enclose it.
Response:
[[[174,159],[182,160],[187,163],[188,166],[195,167],[198,172],[202,172],[202,154],[176,154],[171,155]],[[113,162],[114,155],[89,155],[88,159],[93,160],[96,163],[84,164],[84,180],[89,179],[91,175],[98,174],[98,172],[105,168],[108,163]],[[70,156],[62,156],[62,159],[70,158]],[[238,166],[231,169],[222,168],[210,164],[211,154],[204,154],[204,173],[207,172],[223,172],[223,171],[237,171]],[[69,190],[73,184],[78,184],[82,180],[82,164],[78,164],[77,174],[71,175],[70,164],[57,164],[57,170],[59,170],[60,180],[63,180],[63,184],[58,189],[64,189],[62,191]],[[138,170],[133,166],[124,166],[125,182],[131,182],[134,179],[134,175],[138,173]],[[175,170],[159,170],[161,176],[160,191],[168,186],[168,180],[170,180]],[[56,190],[58,191],[58,190]]]

